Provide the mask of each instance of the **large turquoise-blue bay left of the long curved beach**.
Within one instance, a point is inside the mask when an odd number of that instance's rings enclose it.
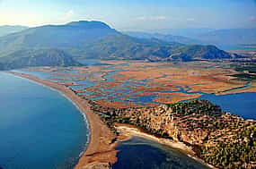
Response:
[[[73,168],[87,135],[83,115],[66,97],[0,72],[0,168]]]

